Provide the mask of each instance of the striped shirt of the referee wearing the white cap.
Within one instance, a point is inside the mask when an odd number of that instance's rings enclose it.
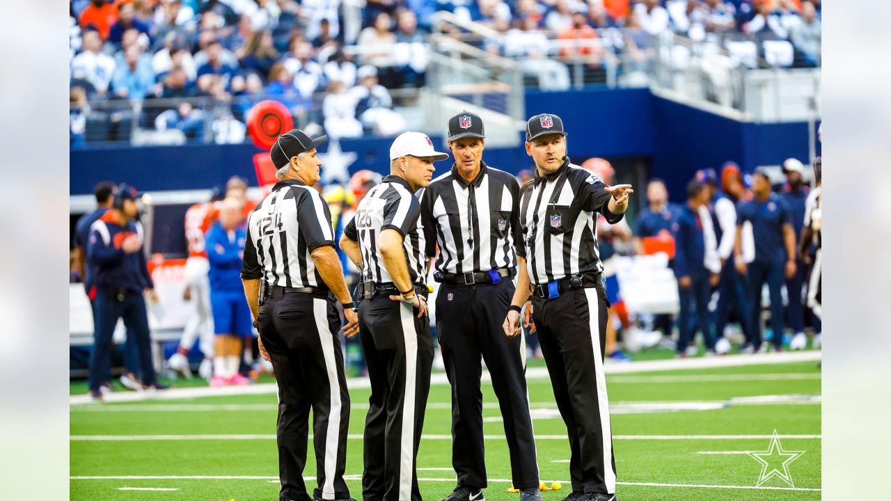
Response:
[[[424,231],[421,202],[402,177],[387,176],[359,202],[356,216],[344,229],[362,252],[363,281],[392,283],[380,259],[380,232],[393,228],[403,237],[405,263],[413,283],[423,283],[425,273]]]

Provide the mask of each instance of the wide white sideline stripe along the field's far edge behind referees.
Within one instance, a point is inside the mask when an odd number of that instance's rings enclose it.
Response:
[[[821,359],[820,351],[797,351],[783,353],[763,353],[757,355],[728,355],[726,357],[699,357],[699,358],[673,358],[669,360],[644,360],[641,362],[624,362],[607,364],[604,366],[606,374],[630,374],[630,373],[646,373],[654,371],[677,371],[688,369],[708,369],[716,367],[734,367],[740,365],[772,365],[772,364],[789,364],[793,362],[809,362]],[[733,374],[730,374],[733,375]],[[745,374],[740,374],[745,375]],[[816,374],[814,374],[816,375]],[[526,377],[528,380],[547,379],[548,371],[544,367],[534,367],[527,369]],[[665,376],[655,376],[665,377]],[[819,378],[819,375],[816,375]],[[484,371],[482,375],[483,381],[491,381],[489,374]],[[608,378],[608,382],[614,382],[615,378]],[[444,385],[448,384],[446,374],[433,374],[430,378],[430,384]],[[367,377],[350,378],[347,380],[347,386],[350,389],[370,388]],[[266,395],[274,394],[278,391],[278,387],[274,382],[251,384],[249,386],[226,386],[224,388],[174,388],[164,391],[152,392],[135,392],[135,391],[116,391],[105,396],[107,402],[135,402],[141,400],[173,400],[183,398],[201,398],[201,397],[224,397],[229,395]],[[89,395],[72,395],[69,397],[69,404],[72,406],[90,404],[92,400]]]

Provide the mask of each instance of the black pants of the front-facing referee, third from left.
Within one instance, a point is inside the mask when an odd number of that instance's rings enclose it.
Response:
[[[526,388],[523,336],[509,338],[502,324],[513,298],[509,279],[477,285],[443,284],[437,294],[437,336],[452,384],[452,465],[458,485],[486,487],[480,357],[504,420],[516,489],[538,487],[535,437]]]

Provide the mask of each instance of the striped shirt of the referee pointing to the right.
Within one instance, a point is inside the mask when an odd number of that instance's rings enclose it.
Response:
[[[609,212],[611,194],[600,177],[564,160],[560,170],[535,179],[520,190],[520,224],[526,239],[529,279],[541,285],[584,272],[602,272],[597,243],[597,214],[611,224],[622,219]]]

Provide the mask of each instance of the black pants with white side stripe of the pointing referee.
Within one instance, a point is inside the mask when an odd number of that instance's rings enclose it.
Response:
[[[603,373],[609,300],[600,286],[533,297],[533,321],[569,435],[572,490],[616,492],[616,461]]]

